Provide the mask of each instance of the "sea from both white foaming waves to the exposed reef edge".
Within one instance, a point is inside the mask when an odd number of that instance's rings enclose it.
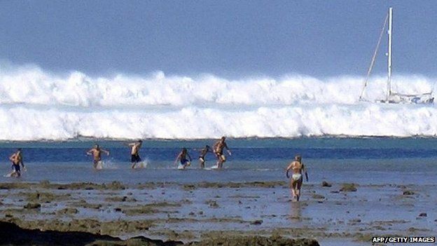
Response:
[[[0,170],[10,170],[8,156],[22,147],[28,170],[20,180],[286,180],[296,153],[314,183],[431,184],[436,175],[436,105],[375,103],[386,94],[384,76],[370,78],[361,102],[359,76],[90,76],[0,66]],[[425,76],[392,81],[398,93],[436,89]],[[233,156],[221,171],[200,170],[194,149],[223,135]],[[140,151],[144,170],[130,170],[133,139],[148,139]],[[92,170],[85,155],[95,142],[111,151],[102,171]],[[174,159],[183,147],[193,163],[178,171]],[[207,167],[214,163],[209,154]]]

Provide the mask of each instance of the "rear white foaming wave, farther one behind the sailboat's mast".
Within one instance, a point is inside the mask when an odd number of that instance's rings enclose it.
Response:
[[[424,76],[397,76],[393,81],[398,93],[426,93],[435,86],[433,79]],[[384,98],[385,83],[383,76],[371,78],[365,98]],[[39,67],[0,69],[1,104],[74,107],[356,104],[362,87],[363,78],[358,76],[318,79],[290,75],[228,80],[209,74],[165,76],[157,71],[148,76],[118,74],[94,78],[78,71],[55,75]]]

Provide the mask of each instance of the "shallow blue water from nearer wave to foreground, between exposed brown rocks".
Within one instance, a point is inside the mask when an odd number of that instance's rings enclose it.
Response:
[[[85,152],[99,142],[111,151],[104,156],[104,170],[93,170]],[[121,191],[50,191],[69,193],[70,200],[43,204],[41,213],[31,212],[22,219],[59,219],[57,210],[76,207],[77,200],[102,204],[97,209],[78,207],[75,219],[99,221],[152,220],[148,231],[115,233],[127,238],[146,235],[169,238],[174,231],[190,231],[186,240],[207,231],[242,231],[269,235],[315,237],[321,245],[368,245],[357,238],[363,235],[436,235],[437,213],[437,139],[425,138],[308,138],[308,139],[228,139],[233,151],[223,170],[201,170],[197,151],[213,140],[146,140],[141,157],[144,169],[130,169],[130,149],[126,142],[76,140],[70,142],[2,142],[0,171],[9,172],[8,155],[22,147],[27,172],[20,179],[0,177],[0,182],[50,183],[94,182],[123,184],[165,182],[148,189]],[[174,158],[181,147],[193,157],[188,170],[176,170]],[[291,202],[284,168],[296,153],[303,155],[310,182],[303,186],[299,203]],[[207,167],[214,164],[207,156]],[[332,187],[321,187],[327,181]],[[184,184],[212,182],[210,188],[186,189]],[[242,185],[228,182],[282,182],[275,187]],[[339,192],[342,183],[356,184],[356,192]],[[217,186],[223,184],[223,187]],[[404,196],[403,191],[413,191]],[[27,200],[20,192],[1,191],[2,210],[18,209]],[[134,198],[135,201],[111,202],[110,197]],[[188,201],[188,202],[187,202]],[[117,207],[173,203],[153,214],[126,216]],[[216,205],[214,205],[216,203]],[[212,205],[211,205],[212,204]],[[419,217],[426,212],[427,217]],[[71,219],[67,216],[64,219]],[[261,224],[252,224],[262,220]]]

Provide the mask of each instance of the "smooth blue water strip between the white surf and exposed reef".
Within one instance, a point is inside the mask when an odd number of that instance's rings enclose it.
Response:
[[[0,177],[1,182],[263,182],[286,181],[285,168],[293,156],[303,156],[310,183],[322,181],[356,184],[436,184],[437,139],[433,138],[298,138],[227,139],[232,156],[223,170],[202,170],[199,151],[214,139],[146,139],[140,150],[146,168],[130,168],[129,143],[101,139],[67,142],[1,142],[0,172],[11,170],[8,156],[23,149],[27,172],[20,179]],[[102,153],[103,170],[92,168],[85,153],[99,143],[110,151]],[[193,158],[187,170],[176,170],[174,160],[181,148]],[[212,153],[206,166],[215,164]]]

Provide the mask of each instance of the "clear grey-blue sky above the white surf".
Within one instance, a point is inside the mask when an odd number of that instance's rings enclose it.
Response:
[[[394,74],[436,76],[437,2],[426,0],[0,0],[0,60],[93,75],[365,76],[389,6]]]

